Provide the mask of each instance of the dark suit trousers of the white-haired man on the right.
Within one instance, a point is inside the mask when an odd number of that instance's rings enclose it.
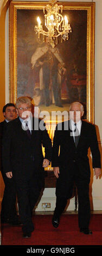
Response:
[[[89,179],[85,179],[78,175],[77,170],[75,168],[75,172],[71,180],[69,181],[69,186],[72,187],[75,185],[78,189],[78,222],[79,228],[88,228],[90,223],[90,198],[89,198]],[[66,207],[67,199],[71,198],[71,192],[68,192],[67,197],[56,196],[56,207],[54,214],[56,217],[60,217],[63,210]]]

